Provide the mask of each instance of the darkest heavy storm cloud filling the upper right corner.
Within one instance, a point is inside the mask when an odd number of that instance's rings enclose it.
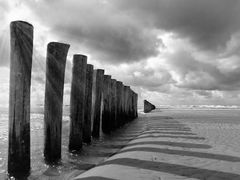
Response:
[[[109,1],[110,2],[110,1]],[[240,28],[239,0],[121,0],[119,8],[148,25],[189,38],[204,50],[226,46]]]

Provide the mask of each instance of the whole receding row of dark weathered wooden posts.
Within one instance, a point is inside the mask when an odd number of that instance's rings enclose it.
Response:
[[[11,31],[8,172],[30,170],[30,88],[33,26],[14,21]],[[44,102],[44,157],[47,163],[61,159],[64,74],[68,44],[47,46]],[[70,95],[69,150],[78,151],[83,142],[110,133],[137,117],[137,94],[129,86],[94,70],[87,56],[73,56]]]

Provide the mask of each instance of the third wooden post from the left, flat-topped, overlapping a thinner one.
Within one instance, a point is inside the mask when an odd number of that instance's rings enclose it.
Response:
[[[86,71],[87,56],[74,55],[70,96],[70,151],[79,151],[82,148]]]

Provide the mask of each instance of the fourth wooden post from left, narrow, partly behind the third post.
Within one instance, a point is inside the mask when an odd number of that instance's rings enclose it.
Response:
[[[92,115],[92,85],[93,85],[93,65],[87,64],[86,89],[85,89],[85,112],[83,123],[83,142],[91,142],[91,115]]]

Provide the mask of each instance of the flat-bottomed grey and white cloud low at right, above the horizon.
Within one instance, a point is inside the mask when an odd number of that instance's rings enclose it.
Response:
[[[229,65],[228,71],[209,62],[200,62],[191,54],[181,51],[168,57],[171,70],[180,82],[178,87],[194,90],[236,90],[240,88],[240,59]]]

